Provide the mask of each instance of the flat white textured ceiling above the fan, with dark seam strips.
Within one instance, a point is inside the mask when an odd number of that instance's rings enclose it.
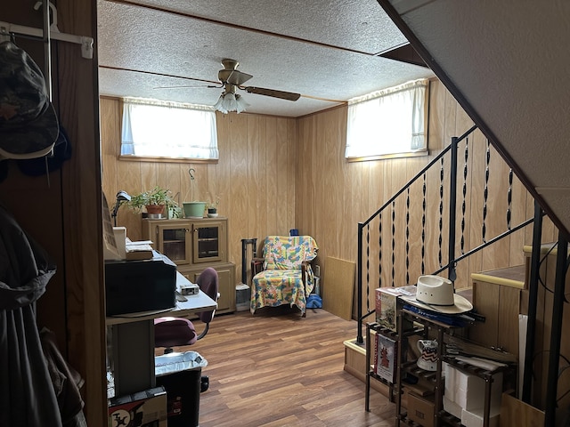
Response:
[[[379,56],[407,40],[376,0],[99,0],[97,9],[103,95],[214,105],[222,89],[205,86],[231,58],[253,75],[246,85],[302,95],[241,92],[248,112],[300,117],[434,76]]]

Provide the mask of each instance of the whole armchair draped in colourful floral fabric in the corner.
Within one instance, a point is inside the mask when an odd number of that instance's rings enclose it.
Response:
[[[262,307],[296,305],[305,317],[306,299],[313,291],[311,262],[317,246],[311,236],[268,236],[263,258],[252,260],[251,313]]]

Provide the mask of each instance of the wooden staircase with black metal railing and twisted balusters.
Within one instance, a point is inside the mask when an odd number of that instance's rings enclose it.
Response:
[[[570,390],[570,383],[558,378],[560,360],[565,362],[564,370],[570,365],[568,359],[558,358],[560,345],[566,351],[561,321],[567,262],[560,256],[544,264],[550,258],[540,256],[542,232],[552,226],[548,218],[543,221],[536,203],[530,218],[513,222],[532,197],[524,204],[513,198],[517,177],[501,156],[493,155],[488,141],[476,138],[477,132],[474,126],[452,138],[439,156],[359,224],[358,326],[356,339],[345,342],[345,370],[365,379],[362,333],[364,322],[374,320],[374,290],[412,285],[422,274],[440,274],[454,281],[456,292],[472,292],[476,310],[488,317],[484,326],[474,329],[474,341],[518,354],[520,336],[522,353],[528,354],[521,358],[525,375],[515,392],[544,409],[547,417],[560,418],[560,411],[549,409],[549,402],[557,405],[558,400],[560,405]],[[558,245],[567,248],[564,235],[558,238]],[[547,264],[556,266],[555,272],[547,273]],[[488,265],[492,268],[485,268]],[[539,281],[550,281],[550,291],[539,287]],[[518,333],[519,313],[529,316],[526,336]],[[570,326],[570,318],[565,325]],[[550,358],[541,356],[547,353]],[[536,355],[549,360],[535,367]],[[371,385],[388,395],[383,384],[372,380]]]

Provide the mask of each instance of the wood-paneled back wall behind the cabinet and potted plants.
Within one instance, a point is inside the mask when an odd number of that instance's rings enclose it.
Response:
[[[180,202],[220,197],[218,213],[228,217],[229,259],[236,264],[236,278],[241,278],[242,238],[257,238],[261,243],[267,235],[287,235],[296,227],[295,119],[217,113],[217,164],[136,162],[118,160],[119,104],[117,99],[101,99],[102,186],[110,205],[119,189],[136,193],[157,184],[179,195]],[[191,167],[196,178],[193,195]],[[118,225],[126,226],[133,240],[141,238],[139,218],[126,206],[118,212]]]

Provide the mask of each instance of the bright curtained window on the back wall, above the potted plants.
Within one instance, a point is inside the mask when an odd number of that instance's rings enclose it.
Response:
[[[218,158],[213,108],[131,98],[123,102],[122,157]]]

